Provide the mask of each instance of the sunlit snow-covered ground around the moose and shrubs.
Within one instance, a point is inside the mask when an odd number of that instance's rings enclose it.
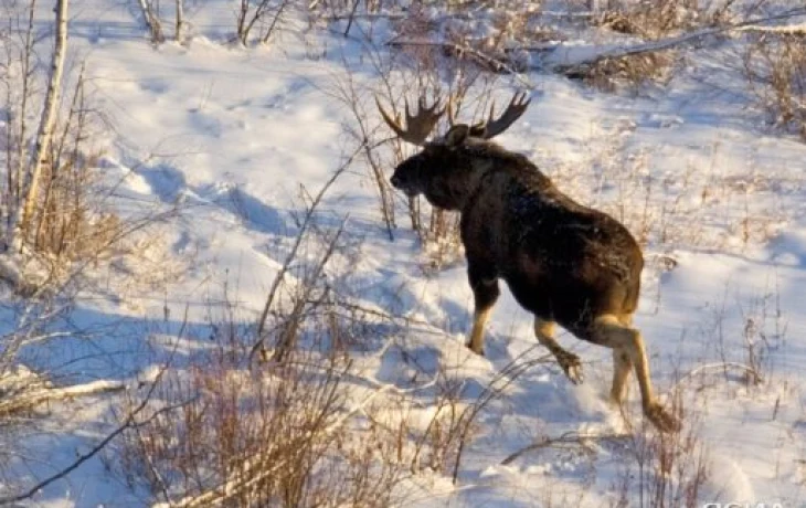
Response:
[[[189,12],[192,41],[158,47],[129,7],[75,0],[71,9],[71,59],[86,61],[93,99],[114,125],[105,171],[123,181],[125,202],[180,203],[181,213],[155,230],[153,269],[170,284],[157,292],[113,284],[103,297],[82,300],[71,322],[92,329],[92,339],[59,342],[36,361],[70,380],[131,380],[159,357],[145,338],[173,345],[185,308],[199,328],[214,320],[211,308],[225,285],[248,319],[259,314],[297,231],[300,186],[317,192],[352,149],[342,126],[354,120],[328,91],[346,63],[359,84],[377,76],[361,44],[339,34],[289,30],[267,46],[226,43],[230,2],[200,2]],[[43,7],[43,27],[49,19]],[[499,141],[528,155],[571,195],[646,234],[636,325],[658,391],[681,388],[685,434],[707,451],[698,502],[806,506],[806,145],[770,130],[746,107],[733,57],[703,51],[668,87],[638,96],[530,74],[532,104]],[[508,84],[502,97],[518,85]],[[488,326],[487,357],[467,351],[473,299],[464,263],[425,275],[415,235],[399,220],[390,241],[377,201],[370,173],[357,165],[322,204],[336,224],[349,215],[357,301],[425,325],[394,347],[379,346],[380,354],[357,353],[361,371],[404,388],[416,371],[427,380],[442,369],[465,387],[469,403],[511,362],[543,353],[531,319],[506,290]],[[441,473],[415,475],[405,506],[618,504],[636,451],[648,445],[605,402],[609,351],[564,332],[560,340],[583,359],[585,382],[571,384],[552,363],[527,369],[479,413],[456,485]],[[747,366],[751,349],[762,357],[759,385],[721,367]],[[24,444],[47,462],[28,463],[30,476],[12,479],[47,476],[86,452],[112,428],[110,403],[59,409],[64,413],[52,415],[46,432]],[[641,421],[635,387],[627,414]],[[501,464],[566,433],[614,436]],[[636,478],[626,487],[629,506],[640,506]],[[30,502],[147,504],[99,457]]]

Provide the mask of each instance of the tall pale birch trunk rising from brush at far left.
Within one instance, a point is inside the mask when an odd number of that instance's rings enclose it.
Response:
[[[36,145],[31,155],[30,170],[28,173],[28,191],[22,203],[22,218],[19,229],[14,232],[14,247],[21,247],[30,229],[34,207],[39,198],[40,180],[42,180],[42,167],[44,166],[53,138],[53,128],[59,108],[59,93],[62,87],[62,74],[64,72],[64,56],[67,52],[67,3],[68,0],[56,0],[56,43],[51,61],[51,80],[47,83],[45,105],[42,109],[42,119],[36,134]],[[17,245],[19,244],[19,245]]]

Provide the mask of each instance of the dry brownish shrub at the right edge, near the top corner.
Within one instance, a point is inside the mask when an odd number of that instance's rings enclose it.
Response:
[[[744,75],[775,127],[806,140],[806,34],[766,32],[750,35]]]

